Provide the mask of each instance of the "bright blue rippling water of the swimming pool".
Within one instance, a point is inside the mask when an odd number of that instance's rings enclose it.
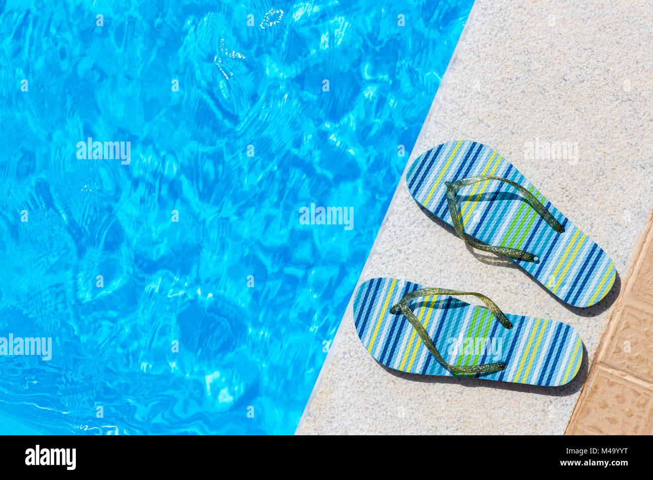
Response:
[[[294,432],[473,2],[201,3],[0,2],[0,430]]]

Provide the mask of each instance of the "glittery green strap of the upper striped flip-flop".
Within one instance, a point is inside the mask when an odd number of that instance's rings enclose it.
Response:
[[[532,193],[530,193],[530,191],[522,187],[522,185],[516,184],[512,180],[508,180],[507,178],[497,177],[494,175],[477,175],[473,177],[462,178],[460,180],[456,180],[455,182],[451,182],[451,183],[445,182],[445,185],[447,185],[447,204],[449,204],[449,214],[451,215],[451,221],[453,222],[454,229],[456,229],[456,232],[458,232],[460,238],[465,240],[465,242],[470,244],[473,248],[483,250],[483,251],[490,251],[492,253],[502,253],[503,255],[507,255],[508,257],[525,260],[527,262],[537,262],[539,258],[533,255],[532,253],[528,253],[528,251],[518,250],[516,248],[483,245],[474,242],[473,240],[470,240],[470,238],[467,236],[465,231],[460,226],[458,206],[456,205],[456,190],[462,187],[466,187],[468,185],[477,184],[478,182],[486,182],[487,180],[500,180],[502,182],[506,182],[508,184],[513,185],[513,187],[515,187],[519,191],[519,193],[524,195],[524,199],[526,199],[526,202],[528,202],[528,204],[532,206],[535,209],[535,211],[543,219],[545,219],[545,221],[547,221],[547,223],[549,223],[552,229],[560,233],[565,231],[564,227],[560,225],[560,222],[554,219],[554,217],[550,214],[549,210],[544,208],[544,205],[541,204],[541,202],[537,200],[535,196]]]

